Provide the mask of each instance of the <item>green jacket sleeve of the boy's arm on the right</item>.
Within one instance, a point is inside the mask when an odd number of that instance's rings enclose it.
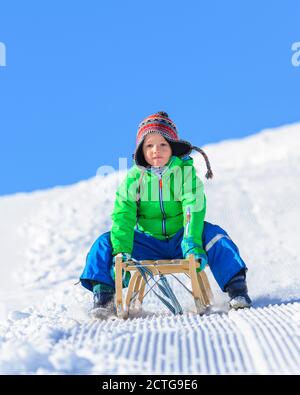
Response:
[[[199,258],[205,254],[202,243],[202,232],[206,213],[204,185],[196,175],[194,166],[185,166],[183,174],[182,210],[184,235],[181,248],[184,258],[194,254]]]

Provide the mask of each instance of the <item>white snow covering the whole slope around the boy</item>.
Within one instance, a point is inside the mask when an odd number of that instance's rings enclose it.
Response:
[[[110,228],[125,173],[3,196],[1,374],[300,373],[300,124],[204,149],[215,174],[205,181],[207,220],[239,246],[253,308],[228,313],[208,272],[210,315],[197,316],[176,286],[183,316],[149,294],[140,316],[92,320],[91,294],[74,284],[92,242]],[[193,156],[203,178],[203,159]]]

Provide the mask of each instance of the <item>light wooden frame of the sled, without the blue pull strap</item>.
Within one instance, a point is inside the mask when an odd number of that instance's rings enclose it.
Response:
[[[194,297],[197,313],[203,314],[206,309],[212,305],[213,294],[206,273],[204,271],[196,271],[196,268],[199,267],[199,263],[195,260],[194,255],[189,255],[186,259],[144,260],[139,261],[139,265],[146,265],[147,268],[151,270],[153,276],[159,274],[187,274],[191,279],[191,292]],[[130,309],[133,307],[135,309],[141,309],[145,295],[146,281],[135,263],[133,261],[122,262],[121,256],[116,257],[115,269],[117,316],[126,319],[129,316]],[[125,305],[122,292],[122,270],[131,272],[131,279],[125,297]]]

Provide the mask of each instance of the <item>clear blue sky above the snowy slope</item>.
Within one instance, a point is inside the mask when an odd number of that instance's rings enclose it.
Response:
[[[296,0],[6,1],[0,195],[118,169],[164,110],[203,146],[300,121]]]

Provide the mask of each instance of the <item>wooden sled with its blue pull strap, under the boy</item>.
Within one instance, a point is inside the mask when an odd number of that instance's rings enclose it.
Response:
[[[173,314],[182,314],[182,308],[176,299],[171,287],[167,282],[167,275],[173,275],[182,286],[187,287],[175,276],[178,273],[186,274],[191,281],[191,290],[197,313],[204,314],[209,306],[213,303],[213,294],[204,271],[197,272],[199,263],[195,260],[194,255],[186,259],[172,260],[143,260],[135,259],[122,262],[122,257],[116,257],[115,262],[115,289],[116,289],[116,309],[119,318],[128,318],[130,309],[140,309],[145,296],[146,284],[150,286],[149,280],[154,282],[161,291],[156,293],[152,286],[150,289],[156,296],[169,308]],[[131,279],[123,301],[123,271],[131,272]]]

